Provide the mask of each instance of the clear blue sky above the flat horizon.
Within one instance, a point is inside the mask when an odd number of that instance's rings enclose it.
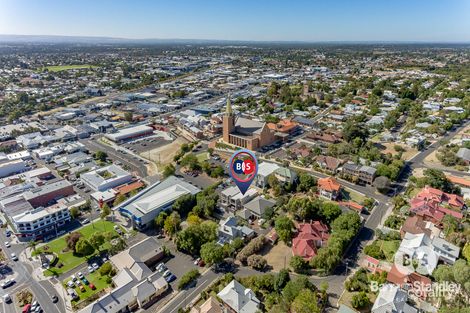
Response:
[[[0,0],[0,34],[470,42],[470,0]]]

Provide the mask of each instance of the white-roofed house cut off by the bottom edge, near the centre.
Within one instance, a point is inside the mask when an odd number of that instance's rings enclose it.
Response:
[[[261,302],[253,290],[245,288],[235,279],[225,286],[217,296],[222,300],[229,312],[256,313],[259,311]]]

